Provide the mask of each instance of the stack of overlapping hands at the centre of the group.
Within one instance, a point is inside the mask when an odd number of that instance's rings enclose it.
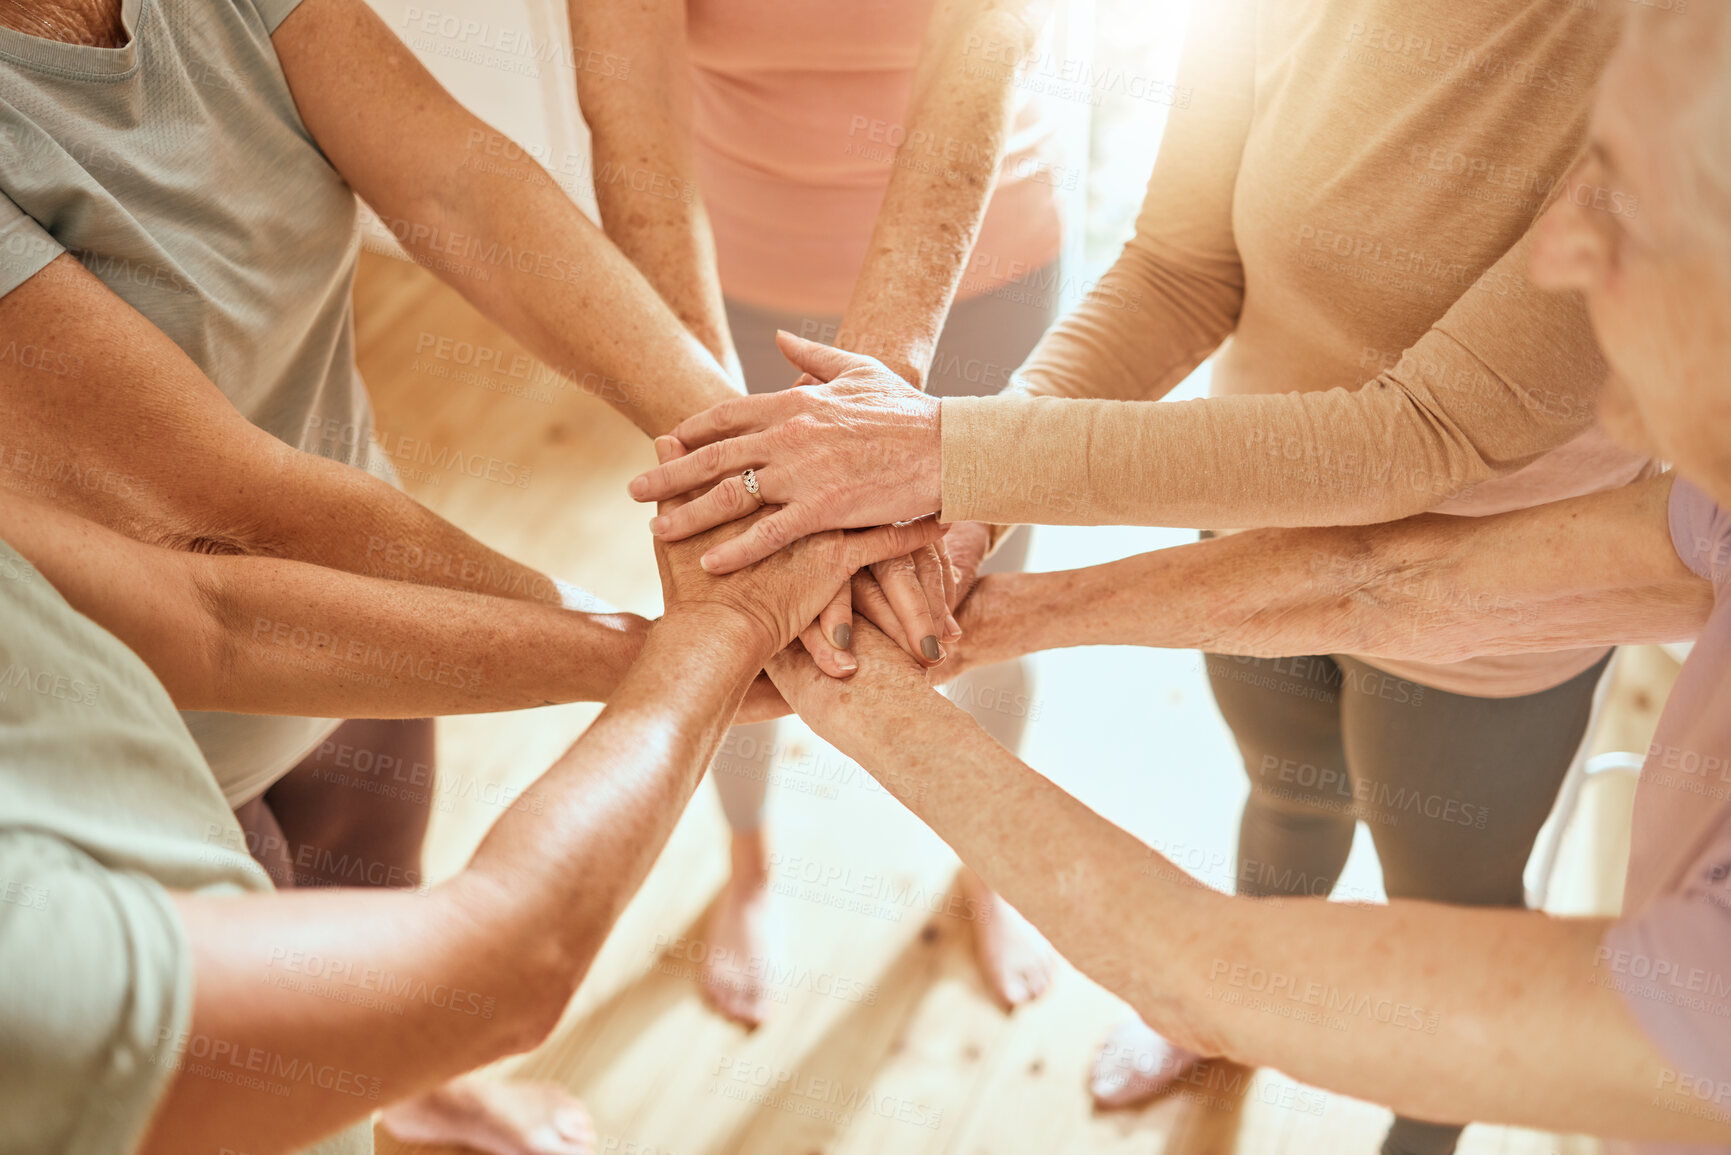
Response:
[[[779,343],[803,374],[798,388],[691,417],[656,440],[661,464],[632,481],[635,499],[661,502],[649,528],[663,544],[663,575],[687,563],[711,578],[737,575],[706,589],[769,599],[737,608],[765,625],[774,618],[777,637],[789,615],[798,618],[826,592],[788,636],[803,642],[800,668],[848,679],[860,668],[857,655],[878,655],[888,639],[905,655],[897,663],[904,670],[954,677],[962,667],[954,653],[962,637],[957,611],[992,535],[981,523],[936,525],[936,398],[871,357],[788,332]],[[758,495],[744,485],[746,469]],[[852,532],[866,526],[881,532]],[[914,544],[876,558],[879,544],[898,540]],[[795,575],[805,582],[798,594],[765,589]],[[684,580],[692,587],[692,575]],[[670,611],[673,589],[668,584]],[[795,668],[789,661],[782,668]],[[767,684],[753,687],[741,720],[774,715],[767,693]]]

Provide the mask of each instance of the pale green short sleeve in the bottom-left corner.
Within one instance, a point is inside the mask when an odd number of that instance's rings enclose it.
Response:
[[[7,829],[0,975],[0,1150],[135,1150],[192,1004],[168,892],[52,835]]]

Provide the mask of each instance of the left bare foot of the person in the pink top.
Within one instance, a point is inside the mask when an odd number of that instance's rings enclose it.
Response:
[[[736,833],[734,873],[703,928],[703,997],[717,1011],[756,1027],[769,1015],[767,973],[781,952],[781,930],[769,892],[769,859],[760,831]]]

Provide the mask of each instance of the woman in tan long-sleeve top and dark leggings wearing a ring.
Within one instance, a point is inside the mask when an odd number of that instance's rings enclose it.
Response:
[[[1136,237],[1011,395],[936,402],[855,369],[803,397],[732,400],[675,429],[703,448],[639,495],[755,468],[782,511],[717,551],[725,568],[808,526],[940,507],[947,521],[1340,525],[1483,516],[1651,473],[1593,428],[1603,364],[1579,303],[1527,279],[1527,232],[1580,152],[1617,38],[1601,9],[1198,5],[1189,107],[1174,109]],[[841,369],[788,350],[824,379]],[[1212,398],[1137,403],[1217,350]],[[744,507],[729,480],[665,530]],[[1210,655],[1250,779],[1239,888],[1328,894],[1364,819],[1390,894],[1520,906],[1605,660],[1603,646],[1461,663]],[[1371,798],[1470,795],[1497,819],[1340,805],[1283,765],[1374,784]],[[1106,1058],[1122,1061],[1097,1068],[1096,1096],[1123,1103],[1194,1056],[1129,1025]],[[1400,1124],[1385,1150],[1454,1141]]]

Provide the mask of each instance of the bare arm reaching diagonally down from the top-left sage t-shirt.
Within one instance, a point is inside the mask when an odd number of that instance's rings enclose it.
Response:
[[[651,435],[737,393],[547,170],[445,92],[364,0],[305,0],[272,45],[331,165],[412,256],[544,362],[599,381]]]

